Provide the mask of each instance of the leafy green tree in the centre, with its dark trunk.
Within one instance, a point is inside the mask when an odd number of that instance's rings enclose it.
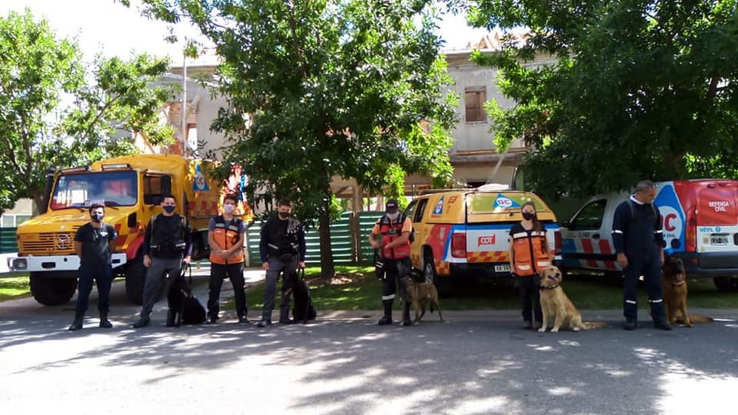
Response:
[[[324,275],[334,274],[331,178],[390,195],[409,173],[449,181],[455,97],[441,89],[450,79],[427,1],[146,3],[215,43],[225,156],[244,166],[256,202],[290,197],[301,219],[317,218]]]

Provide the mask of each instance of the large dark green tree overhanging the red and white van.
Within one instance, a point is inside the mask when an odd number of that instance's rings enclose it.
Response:
[[[473,59],[500,69],[517,105],[487,106],[496,143],[524,137],[526,179],[548,195],[626,189],[641,178],[738,173],[735,0],[479,0],[469,21],[511,33]],[[554,57],[531,66],[536,57]]]

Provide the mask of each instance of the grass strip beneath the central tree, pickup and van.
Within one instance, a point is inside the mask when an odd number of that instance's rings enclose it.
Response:
[[[317,310],[381,310],[382,284],[372,267],[337,267],[331,281],[320,277],[320,268],[308,268],[306,279]],[[281,282],[279,282],[281,284]],[[562,283],[567,295],[582,310],[607,310],[622,307],[620,278],[596,275],[567,276]],[[278,287],[277,287],[278,288]],[[249,310],[263,307],[263,284],[249,288]],[[278,296],[277,290],[277,296]],[[638,303],[647,308],[645,287],[640,287]],[[442,310],[514,310],[520,307],[517,288],[504,284],[462,285],[450,296],[441,298]],[[276,307],[280,300],[277,298]],[[399,310],[399,301],[395,308]],[[720,293],[711,279],[689,281],[689,307],[738,308],[738,293]],[[232,301],[224,307],[233,309]]]

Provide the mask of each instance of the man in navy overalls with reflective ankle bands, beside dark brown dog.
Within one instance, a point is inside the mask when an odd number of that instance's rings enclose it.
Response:
[[[630,198],[621,202],[613,217],[613,244],[618,264],[625,273],[623,313],[624,329],[638,327],[638,279],[644,276],[651,318],[656,328],[670,330],[663,308],[661,265],[663,264],[663,233],[656,198],[656,184],[638,182]]]

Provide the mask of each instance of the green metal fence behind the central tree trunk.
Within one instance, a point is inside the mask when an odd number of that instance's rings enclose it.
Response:
[[[367,241],[372,226],[381,216],[382,212],[361,212],[357,220],[354,212],[344,212],[341,219],[331,223],[331,250],[334,262],[337,264],[371,262],[373,253]],[[250,266],[261,262],[259,240],[262,225],[261,222],[255,222],[246,229],[246,248],[249,251]],[[306,262],[310,265],[320,264],[320,235],[317,229],[311,228],[306,232],[305,242]]]

